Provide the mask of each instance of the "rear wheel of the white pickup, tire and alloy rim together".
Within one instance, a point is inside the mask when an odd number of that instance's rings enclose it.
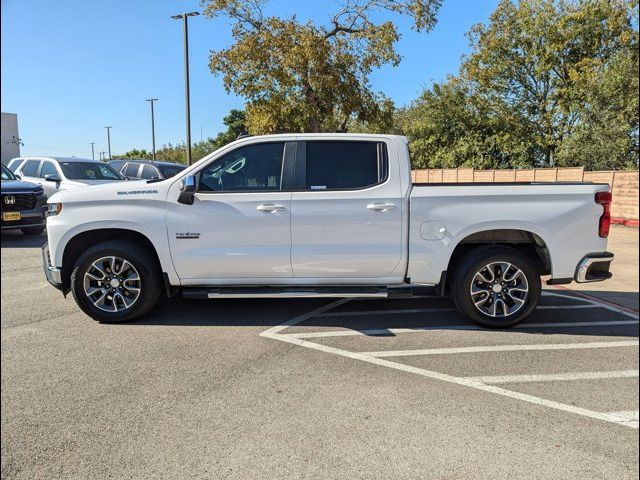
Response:
[[[451,285],[461,313],[492,328],[507,328],[529,317],[540,300],[540,272],[520,251],[480,247],[456,267]]]

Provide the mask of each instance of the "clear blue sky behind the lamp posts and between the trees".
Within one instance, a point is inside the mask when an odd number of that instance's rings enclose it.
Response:
[[[146,98],[156,103],[158,146],[184,139],[182,25],[169,17],[200,10],[198,1],[1,0],[2,111],[18,114],[24,155],[90,156],[151,148]],[[464,33],[485,22],[497,0],[444,0],[438,25],[418,34],[394,17],[402,33],[398,67],[376,71],[376,90],[397,105],[425,86],[455,73],[468,52]],[[271,0],[268,14],[327,23],[333,0]],[[243,100],[227,94],[208,68],[210,50],[231,41],[227,19],[189,22],[192,140],[214,136],[231,108]],[[96,158],[98,154],[96,153]]]

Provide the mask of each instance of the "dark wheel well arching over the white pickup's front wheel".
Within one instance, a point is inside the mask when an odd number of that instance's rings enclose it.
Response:
[[[152,252],[158,268],[161,270],[160,258],[153,243],[145,235],[134,230],[123,228],[102,228],[98,230],[89,230],[82,232],[73,237],[65,246],[62,255],[62,288],[68,292],[71,288],[71,270],[75,265],[82,252],[88,247],[102,243],[108,240],[125,240],[140,245],[142,248]]]

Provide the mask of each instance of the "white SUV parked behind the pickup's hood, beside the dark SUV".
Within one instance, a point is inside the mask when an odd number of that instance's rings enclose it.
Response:
[[[27,182],[41,185],[48,197],[61,190],[124,181],[107,163],[76,157],[20,157],[9,169]]]

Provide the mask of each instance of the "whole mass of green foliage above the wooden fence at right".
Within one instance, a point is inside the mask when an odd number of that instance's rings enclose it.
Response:
[[[503,0],[399,113],[418,166],[636,167],[637,2]]]

